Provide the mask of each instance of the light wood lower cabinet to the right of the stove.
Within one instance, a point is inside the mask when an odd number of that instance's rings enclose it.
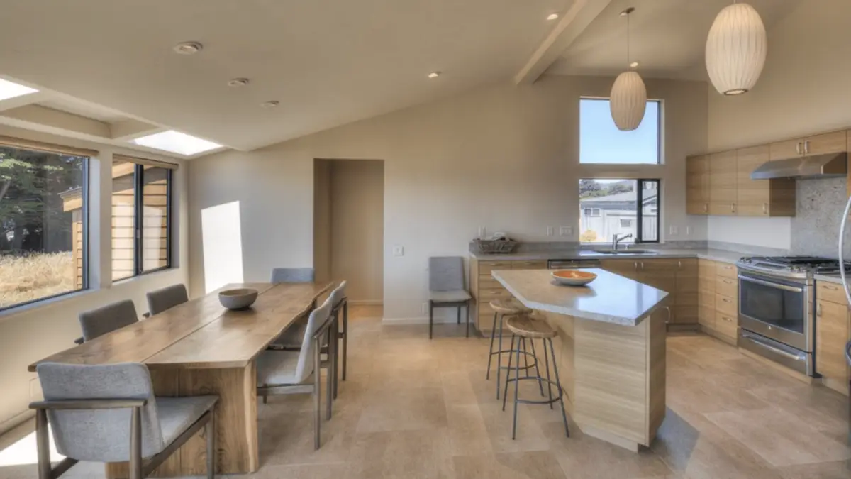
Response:
[[[815,372],[823,382],[848,394],[848,362],[845,344],[851,339],[851,315],[842,286],[816,281]]]

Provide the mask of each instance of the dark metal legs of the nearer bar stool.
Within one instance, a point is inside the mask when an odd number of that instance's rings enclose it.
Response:
[[[515,349],[515,346],[514,346],[515,339],[517,340],[517,348],[516,349]],[[535,363],[535,370],[537,371],[537,376],[529,376],[528,375],[529,369],[527,367],[526,368],[527,376],[525,376],[523,378],[520,377],[520,369],[521,369],[520,355],[525,355],[525,356],[528,357],[528,352],[521,351],[521,349],[520,349],[520,346],[521,346],[520,343],[523,342],[525,344],[525,340],[526,340],[526,338],[517,337],[516,334],[511,335],[511,349],[509,349],[509,350],[511,350],[513,352],[514,358],[512,359],[512,357],[511,357],[512,355],[508,356],[508,367],[506,368],[506,371],[505,371],[505,390],[503,391],[503,395],[502,395],[502,410],[503,411],[505,411],[505,403],[507,402],[507,399],[508,399],[508,384],[514,383],[514,418],[513,418],[513,424],[511,426],[511,439],[513,440],[517,437],[517,405],[518,404],[520,404],[520,403],[549,404],[550,408],[552,408],[552,404],[556,401],[558,401],[559,405],[562,407],[562,419],[564,421],[564,433],[565,433],[566,436],[570,437],[570,428],[568,427],[568,413],[567,413],[567,411],[564,407],[564,394],[565,393],[564,393],[564,390],[562,389],[562,381],[558,377],[558,365],[557,365],[557,359],[556,359],[556,350],[552,346],[552,338],[545,338],[545,339],[542,340],[542,342],[544,343],[544,365],[545,365],[544,368],[545,368],[545,372],[546,372],[546,378],[542,378],[540,376],[540,370],[538,370],[538,367],[537,367],[537,363],[538,363],[537,357],[534,356],[534,340],[532,340],[532,350],[533,350],[533,358],[534,358],[534,363]],[[549,347],[547,347],[547,346],[549,346]],[[550,376],[550,359],[552,359],[552,372],[556,376],[555,381],[553,381],[551,376]],[[514,364],[514,378],[511,378],[512,361],[516,361],[516,362],[513,362],[513,364]],[[531,379],[531,380],[538,381],[538,384],[541,388],[541,395],[544,395],[543,384],[546,383],[547,390],[548,390],[548,393],[549,393],[549,399],[543,399],[543,400],[521,399],[519,397],[520,381],[522,381],[524,379]],[[555,397],[555,398],[552,397],[552,387],[553,386],[556,386],[556,388],[557,388],[557,397]]]

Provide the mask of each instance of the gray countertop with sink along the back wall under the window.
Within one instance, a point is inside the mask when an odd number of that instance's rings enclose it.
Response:
[[[644,249],[644,248],[642,248]],[[712,261],[720,261],[722,263],[735,263],[741,257],[753,256],[747,253],[727,250],[712,250],[712,249],[665,249],[660,248],[654,250],[647,248],[649,251],[654,251],[650,254],[635,254],[635,255],[606,255],[600,254],[593,250],[562,250],[562,251],[529,251],[525,253],[510,253],[510,254],[479,254],[471,252],[471,257],[475,257],[482,261],[531,261],[531,260],[549,260],[549,259],[630,259],[636,257],[642,258],[677,258],[677,257],[698,257],[700,259],[709,259]]]

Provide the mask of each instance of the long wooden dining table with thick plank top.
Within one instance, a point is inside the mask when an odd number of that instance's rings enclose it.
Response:
[[[114,364],[140,362],[151,371],[157,396],[219,395],[216,406],[218,472],[240,474],[260,467],[257,434],[256,359],[294,320],[305,315],[333,283],[228,285],[40,362]],[[254,305],[230,311],[218,292],[254,288]],[[35,372],[37,364],[30,366]],[[154,471],[153,476],[206,474],[204,430]],[[128,476],[127,463],[106,465],[106,476]]]

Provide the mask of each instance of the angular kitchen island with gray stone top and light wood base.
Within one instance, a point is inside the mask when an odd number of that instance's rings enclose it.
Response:
[[[545,269],[491,275],[557,331],[568,413],[589,436],[637,451],[665,418],[668,293],[603,269],[588,286],[560,286]]]

